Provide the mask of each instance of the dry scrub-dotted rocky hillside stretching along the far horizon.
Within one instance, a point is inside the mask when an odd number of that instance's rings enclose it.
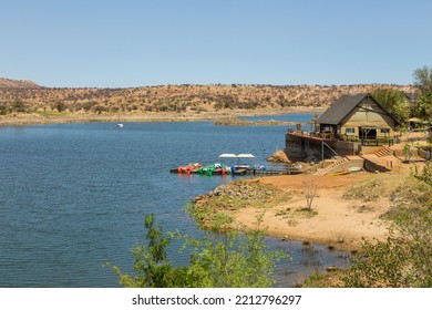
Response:
[[[146,113],[289,110],[328,107],[342,94],[411,85],[161,85],[134,89],[51,89],[0,79],[0,114],[12,112]]]

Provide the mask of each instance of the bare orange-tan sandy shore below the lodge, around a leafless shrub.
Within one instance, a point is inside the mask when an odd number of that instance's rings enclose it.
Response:
[[[401,172],[380,174],[380,183],[401,180]],[[228,210],[244,229],[256,228],[257,216],[264,213],[261,226],[267,234],[281,239],[302,240],[358,250],[361,240],[383,240],[390,223],[380,218],[391,207],[389,197],[371,200],[348,198],[347,190],[368,183],[376,174],[366,172],[340,176],[284,175],[260,177],[254,182],[292,193],[290,199],[274,207],[245,207]],[[302,182],[318,186],[312,202],[313,215],[302,211],[306,198]],[[377,180],[376,180],[377,182]],[[387,186],[387,185],[383,185]]]

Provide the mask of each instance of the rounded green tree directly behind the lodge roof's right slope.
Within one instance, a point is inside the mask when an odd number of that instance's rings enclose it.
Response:
[[[389,111],[400,123],[410,117],[410,105],[407,95],[394,89],[378,89],[372,96]]]

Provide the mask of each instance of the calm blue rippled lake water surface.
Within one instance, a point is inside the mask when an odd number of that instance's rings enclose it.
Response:
[[[288,117],[288,116],[287,116]],[[289,115],[308,121],[310,114]],[[202,231],[183,210],[233,178],[184,176],[169,168],[253,153],[256,163],[284,148],[282,126],[200,123],[62,124],[0,128],[0,287],[119,287],[111,261],[132,271],[131,248],[154,213],[165,231]],[[268,239],[294,261],[277,267],[277,286],[294,286],[341,252]],[[187,261],[174,245],[169,258]]]

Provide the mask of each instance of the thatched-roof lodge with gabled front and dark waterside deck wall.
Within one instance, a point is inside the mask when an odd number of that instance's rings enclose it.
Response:
[[[288,131],[286,153],[291,161],[358,155],[366,146],[392,145],[399,125],[371,94],[343,95],[315,120],[313,132]]]

